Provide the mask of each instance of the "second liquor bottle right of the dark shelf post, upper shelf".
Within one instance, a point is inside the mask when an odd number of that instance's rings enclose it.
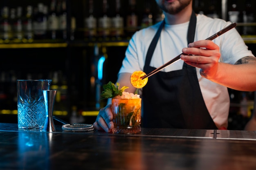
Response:
[[[108,40],[110,37],[111,18],[108,16],[108,1],[103,0],[102,15],[98,21],[99,39]]]

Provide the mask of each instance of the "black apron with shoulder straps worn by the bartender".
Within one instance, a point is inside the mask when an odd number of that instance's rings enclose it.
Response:
[[[164,21],[159,26],[146,55],[144,72],[155,70],[149,66]],[[187,40],[194,41],[196,15],[192,12]],[[145,128],[217,129],[204,103],[195,67],[184,62],[182,70],[162,72],[148,78],[143,88]]]

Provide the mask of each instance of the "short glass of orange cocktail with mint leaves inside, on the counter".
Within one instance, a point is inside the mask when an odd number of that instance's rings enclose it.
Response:
[[[125,92],[124,92],[125,93]],[[112,98],[114,133],[135,134],[141,132],[141,98]]]

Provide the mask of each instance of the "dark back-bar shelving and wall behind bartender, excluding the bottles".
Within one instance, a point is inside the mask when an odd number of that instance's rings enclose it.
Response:
[[[93,2],[94,17],[100,18],[103,10],[102,0],[94,0]],[[116,82],[130,35],[143,28],[142,19],[146,9],[149,9],[153,16],[152,24],[161,19],[159,19],[161,11],[156,7],[155,0],[137,1],[134,11],[138,22],[137,27],[131,32],[126,24],[131,10],[128,2],[128,0],[121,1],[120,15],[124,19],[124,26],[121,31],[122,34],[118,37],[114,33],[106,37],[102,37],[98,33],[94,37],[86,34],[88,29],[85,28],[84,22],[85,18],[89,16],[89,0],[66,1],[68,36],[65,39],[60,36],[60,30],[56,31],[56,38],[52,38],[49,29],[45,30],[44,37],[41,38],[33,36],[31,39],[26,39],[25,34],[22,34],[21,39],[15,39],[13,38],[15,35],[13,30],[8,32],[9,38],[6,40],[2,35],[0,40],[0,121],[9,123],[17,121],[16,79],[53,79],[51,88],[58,89],[54,115],[68,122],[74,118],[81,119],[81,122],[93,123],[97,116],[97,110],[106,104],[106,100],[98,99],[99,91],[102,91],[103,84],[109,81]],[[226,2],[224,9],[220,5],[221,2]],[[8,7],[9,11],[22,7],[22,21],[24,21],[27,7],[31,6],[36,9],[38,3],[43,3],[47,7],[47,14],[45,15],[48,15],[49,18],[51,0],[2,0],[0,7],[1,9]],[[218,5],[213,7],[212,4],[214,3]],[[244,2],[238,0],[237,3],[239,11],[243,11]],[[254,1],[251,3],[252,7],[256,7]],[[213,11],[212,8],[214,8],[219,18],[227,18],[226,20],[228,20],[227,12],[231,10],[230,0],[202,1],[200,4],[194,0],[193,5],[195,12],[198,13],[200,12],[200,5],[204,5],[203,12],[206,15],[210,15]],[[115,0],[109,0],[108,15],[110,17],[116,15],[115,7]],[[34,18],[35,16],[32,19]],[[74,20],[75,24],[72,24]],[[256,33],[244,35],[242,30],[245,23],[239,21],[237,24],[236,29],[240,31],[239,33],[241,33],[249,49],[255,53],[256,40],[254,37]],[[254,25],[254,23],[251,24]],[[102,77],[98,79],[97,64],[102,56],[106,60],[102,64]],[[254,92],[229,89],[229,93],[231,99],[229,129],[243,130],[253,110]],[[246,97],[245,102],[248,104],[248,111],[241,114],[243,97]]]

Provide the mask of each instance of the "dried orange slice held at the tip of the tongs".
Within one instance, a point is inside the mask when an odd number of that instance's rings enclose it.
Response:
[[[135,71],[132,73],[130,77],[130,82],[133,87],[135,88],[142,88],[144,87],[148,82],[148,77],[141,79],[142,76],[146,75],[143,71]]]

